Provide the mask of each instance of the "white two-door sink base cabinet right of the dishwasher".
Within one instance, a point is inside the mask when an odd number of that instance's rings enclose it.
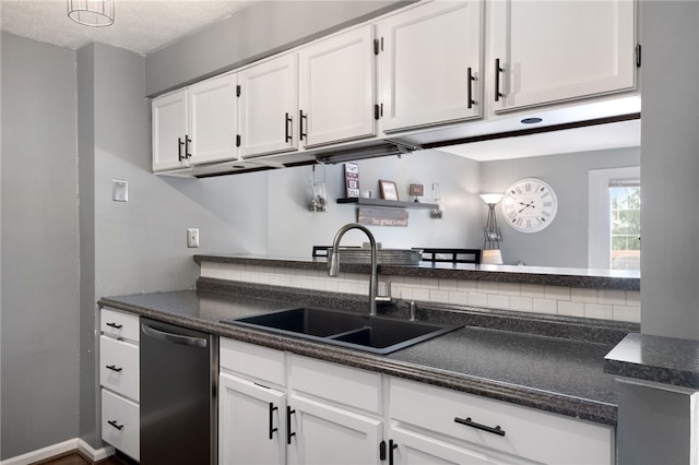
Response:
[[[225,338],[220,362],[220,465],[380,463],[380,374]]]

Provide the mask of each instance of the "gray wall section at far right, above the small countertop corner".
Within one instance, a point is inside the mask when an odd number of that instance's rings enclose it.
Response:
[[[699,3],[642,7],[641,327],[699,339]]]

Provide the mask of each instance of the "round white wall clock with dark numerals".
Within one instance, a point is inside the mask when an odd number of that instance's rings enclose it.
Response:
[[[524,178],[510,186],[501,205],[502,216],[510,226],[522,233],[536,233],[554,220],[558,200],[546,182]]]

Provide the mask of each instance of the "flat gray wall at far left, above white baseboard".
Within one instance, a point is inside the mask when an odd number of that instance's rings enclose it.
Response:
[[[78,436],[75,52],[2,34],[2,455]]]

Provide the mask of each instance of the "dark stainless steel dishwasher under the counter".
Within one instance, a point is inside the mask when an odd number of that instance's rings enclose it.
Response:
[[[217,463],[217,336],[141,318],[141,464]]]

